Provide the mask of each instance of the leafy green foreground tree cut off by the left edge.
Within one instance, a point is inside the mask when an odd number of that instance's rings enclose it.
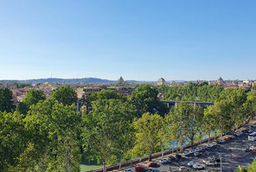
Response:
[[[28,146],[29,132],[26,131],[23,116],[19,113],[0,111],[0,169],[19,171],[20,155]]]

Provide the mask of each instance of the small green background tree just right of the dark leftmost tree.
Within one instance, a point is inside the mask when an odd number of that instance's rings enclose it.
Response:
[[[42,90],[27,90],[26,96],[22,99],[22,103],[19,103],[17,111],[19,113],[26,115],[29,111],[29,107],[39,101],[44,101],[46,99],[45,94]]]

